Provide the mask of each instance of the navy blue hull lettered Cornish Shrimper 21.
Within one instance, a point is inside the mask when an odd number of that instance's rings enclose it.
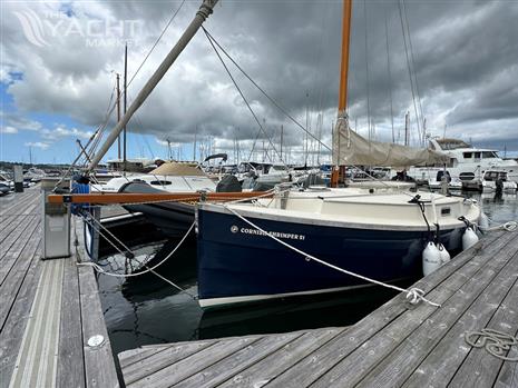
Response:
[[[340,268],[392,282],[422,276],[427,230],[375,230],[248,220],[283,241]],[[444,229],[440,240],[456,253],[463,228]],[[198,209],[198,292],[202,307],[368,287],[371,283],[324,267],[261,235],[237,217]]]

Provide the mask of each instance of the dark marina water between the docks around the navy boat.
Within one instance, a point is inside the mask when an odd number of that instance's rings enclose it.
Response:
[[[495,222],[518,220],[516,193],[468,192],[466,196],[477,199]],[[148,241],[133,250],[139,261],[152,258],[149,266],[153,266],[176,243]],[[188,294],[153,273],[131,279],[99,276],[101,304],[115,354],[148,344],[349,326],[394,296],[384,288],[372,288],[353,297],[349,294],[346,298],[331,294],[203,311],[192,297],[197,294],[195,249],[195,239],[187,239],[174,257],[157,269]],[[111,255],[100,263],[106,270],[120,270],[125,258]]]

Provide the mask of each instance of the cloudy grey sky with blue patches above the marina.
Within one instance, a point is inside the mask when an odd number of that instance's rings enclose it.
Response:
[[[2,1],[0,160],[27,162],[31,153],[37,162],[70,162],[76,139],[86,143],[106,120],[125,42],[130,102],[199,3]],[[223,0],[205,26],[271,98],[330,145],[341,12],[341,1]],[[410,112],[413,145],[426,119],[431,136],[446,131],[518,156],[518,1],[358,0],[352,19],[349,113],[361,135],[401,142]],[[285,159],[302,160],[301,129],[226,62],[275,147],[282,126]],[[107,120],[109,130],[115,111]],[[175,157],[190,159],[196,136],[198,157],[211,147],[233,159],[238,145],[247,159],[255,143],[253,158],[262,159],[268,143],[203,31],[128,130],[130,157],[165,157],[169,140]],[[315,158],[316,143],[307,147]],[[116,156],[114,147],[107,158]]]

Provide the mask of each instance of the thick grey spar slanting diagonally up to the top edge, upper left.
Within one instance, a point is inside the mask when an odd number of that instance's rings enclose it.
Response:
[[[194,17],[190,24],[187,27],[185,32],[179,38],[178,42],[169,51],[169,53],[164,59],[164,61],[160,63],[160,66],[155,71],[155,73],[152,76],[152,78],[146,82],[144,88],[137,94],[135,100],[129,106],[127,112],[124,115],[120,121],[111,130],[110,135],[106,139],[106,142],[96,153],[96,156],[92,158],[91,163],[88,166],[87,172],[91,171],[97,166],[97,163],[99,163],[99,161],[102,159],[102,157],[106,155],[108,149],[111,147],[114,141],[119,136],[123,128],[126,127],[126,125],[131,119],[131,117],[135,115],[137,109],[140,108],[144,101],[146,101],[147,97],[152,93],[152,91],[155,89],[155,87],[165,76],[167,70],[172,67],[172,64],[175,62],[175,60],[185,49],[185,47],[190,41],[190,39],[193,39],[193,37],[196,34],[199,27],[202,27],[203,22],[209,17],[211,13],[213,13],[213,8],[216,3],[217,3],[217,0],[203,0],[203,3],[199,7],[198,11],[196,12],[196,16]]]

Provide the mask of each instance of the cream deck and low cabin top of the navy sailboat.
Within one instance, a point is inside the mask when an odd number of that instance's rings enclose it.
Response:
[[[426,191],[375,191],[366,189],[321,189],[291,191],[274,199],[261,198],[254,203],[202,203],[202,209],[212,212],[233,211],[250,218],[271,221],[290,221],[303,225],[358,228],[371,230],[416,230],[426,231],[420,206],[413,201],[420,198],[424,215],[431,222],[438,219],[443,229],[463,226],[459,217],[476,221],[479,210],[472,202],[459,197],[444,197]],[[418,197],[417,197],[418,196]],[[433,198],[433,202],[432,202]],[[443,211],[442,211],[443,210]]]

